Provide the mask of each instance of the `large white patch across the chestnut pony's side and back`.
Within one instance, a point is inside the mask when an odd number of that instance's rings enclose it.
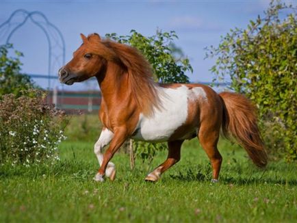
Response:
[[[133,139],[147,142],[165,142],[181,127],[188,118],[188,101],[203,99],[207,96],[203,88],[157,88],[160,96],[160,109],[154,109],[153,116],[140,114],[136,134]]]

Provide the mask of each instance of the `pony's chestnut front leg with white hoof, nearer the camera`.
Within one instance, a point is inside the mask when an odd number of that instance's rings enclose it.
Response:
[[[109,160],[112,159],[114,153],[122,146],[122,144],[127,140],[127,130],[125,128],[117,128],[114,131],[114,137],[112,138],[112,142],[109,144],[109,148],[105,151],[103,156],[103,161],[99,168],[98,173],[96,174],[95,180],[96,181],[104,181],[103,176],[108,174],[107,172],[107,163],[109,165]],[[108,176],[108,175],[107,175]],[[111,178],[112,179],[112,178]]]

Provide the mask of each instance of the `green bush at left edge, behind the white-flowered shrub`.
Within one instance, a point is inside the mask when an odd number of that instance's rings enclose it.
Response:
[[[21,96],[24,90],[34,87],[30,77],[21,74],[21,52],[14,51],[16,57],[10,57],[12,44],[0,45],[0,98],[3,94]]]

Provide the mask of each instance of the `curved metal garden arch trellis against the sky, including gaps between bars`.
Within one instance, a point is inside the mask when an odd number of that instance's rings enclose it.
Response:
[[[21,19],[19,19],[21,18]],[[14,21],[16,20],[16,21]],[[27,21],[31,21],[39,27],[47,38],[48,43],[48,68],[47,77],[44,75],[30,75],[36,78],[47,78],[47,89],[51,89],[51,79],[56,79],[56,75],[52,75],[53,68],[65,64],[65,41],[63,35],[53,23],[50,23],[42,12],[27,10],[16,10],[12,12],[7,21],[0,25],[0,40],[4,39],[5,44],[10,43],[10,39],[18,29],[23,27]]]

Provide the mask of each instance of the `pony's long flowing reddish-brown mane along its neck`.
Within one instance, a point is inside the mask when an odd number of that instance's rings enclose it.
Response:
[[[138,49],[108,39],[101,40],[99,38],[100,41],[92,41],[92,36],[95,37],[96,34],[88,36],[88,47],[90,47],[92,53],[101,55],[106,60],[116,62],[127,70],[133,99],[140,107],[142,114],[151,116],[154,107],[159,109],[157,83],[153,80],[151,64],[148,63]]]

